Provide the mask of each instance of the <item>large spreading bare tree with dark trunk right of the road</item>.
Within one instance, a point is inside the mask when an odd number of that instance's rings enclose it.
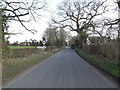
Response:
[[[106,1],[93,1],[93,0],[75,0],[63,2],[59,6],[59,19],[53,19],[57,24],[62,27],[69,27],[71,31],[76,31],[80,35],[81,44],[83,43],[82,37],[88,30],[94,30],[93,24],[95,18],[107,12],[104,3]]]

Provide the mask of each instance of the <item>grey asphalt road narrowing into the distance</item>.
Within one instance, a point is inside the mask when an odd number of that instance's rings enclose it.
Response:
[[[103,74],[66,48],[20,75],[4,88],[116,88]]]

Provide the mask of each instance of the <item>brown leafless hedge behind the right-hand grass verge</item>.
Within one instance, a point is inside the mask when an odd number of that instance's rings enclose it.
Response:
[[[87,45],[83,49],[87,50]],[[118,42],[91,43],[89,52],[95,55],[118,60]]]

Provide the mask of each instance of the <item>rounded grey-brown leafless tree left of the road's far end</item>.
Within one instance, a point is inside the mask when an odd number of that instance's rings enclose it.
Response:
[[[43,34],[43,37],[47,40],[47,45],[63,47],[66,44],[66,38],[68,38],[69,33],[63,28],[58,28],[57,26],[51,25],[47,28]]]

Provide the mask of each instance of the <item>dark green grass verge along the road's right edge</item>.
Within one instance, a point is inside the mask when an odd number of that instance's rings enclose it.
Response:
[[[89,54],[88,52],[81,49],[75,49],[75,50],[80,56],[84,57],[87,60],[90,60],[94,64],[99,65],[104,70],[108,71],[113,76],[120,79],[120,71],[119,71],[120,67],[118,66],[120,63],[119,61]]]

